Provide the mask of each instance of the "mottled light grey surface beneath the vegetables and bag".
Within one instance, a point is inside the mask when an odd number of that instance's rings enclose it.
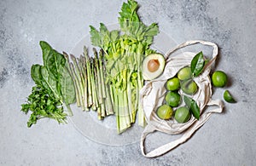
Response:
[[[70,51],[89,25],[117,23],[122,1],[0,1],[0,165],[255,165],[256,1],[138,1],[147,24],[158,22],[176,43],[202,39],[217,43],[216,68],[230,76],[238,103],[225,103],[193,137],[157,158],[142,156],[138,142],[107,146],[92,141],[72,123],[49,120],[26,128],[20,104],[30,94],[32,64],[41,63],[38,42]],[[174,45],[170,45],[170,49]],[[215,89],[219,98],[224,89]],[[156,134],[157,146],[170,135]],[[114,140],[113,140],[114,141]]]

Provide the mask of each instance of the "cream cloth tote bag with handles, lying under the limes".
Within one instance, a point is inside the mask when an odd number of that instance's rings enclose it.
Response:
[[[177,123],[174,119],[167,121],[162,120],[156,115],[155,111],[159,106],[162,105],[165,99],[166,80],[174,77],[184,66],[189,66],[191,60],[195,56],[195,53],[192,52],[182,52],[181,54],[177,54],[175,56],[172,56],[172,54],[176,52],[177,49],[182,49],[183,47],[197,43],[211,46],[213,48],[212,59],[209,60],[206,66],[204,66],[203,72],[198,77],[194,78],[194,81],[198,86],[198,91],[193,96],[190,96],[200,107],[200,119],[196,120],[195,117],[191,116],[189,122],[187,123]],[[148,81],[140,91],[140,101],[148,123],[143,131],[143,134],[141,135],[140,143],[141,151],[145,157],[158,157],[189,140],[195,131],[207,122],[212,113],[220,113],[223,111],[224,107],[222,100],[212,100],[212,84],[209,74],[218,56],[218,46],[215,43],[201,40],[188,41],[177,45],[177,47],[167,52],[165,56],[166,66],[162,75],[154,80]],[[179,90],[179,94],[183,94],[183,91]],[[184,105],[184,103],[181,103],[181,105]],[[217,108],[206,109],[210,106],[217,106]],[[160,131],[168,135],[181,135],[181,137],[166,145],[160,146],[151,152],[146,152],[145,139],[147,135],[154,133],[154,131]]]

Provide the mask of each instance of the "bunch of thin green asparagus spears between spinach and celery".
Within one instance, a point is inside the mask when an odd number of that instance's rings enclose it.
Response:
[[[63,53],[68,60],[68,71],[73,78],[77,106],[84,111],[90,108],[102,119],[113,114],[113,103],[109,94],[109,86],[105,83],[103,51],[99,54],[93,49],[94,56],[89,56],[84,47],[84,54],[76,58],[73,54]],[[71,60],[70,60],[71,59]]]

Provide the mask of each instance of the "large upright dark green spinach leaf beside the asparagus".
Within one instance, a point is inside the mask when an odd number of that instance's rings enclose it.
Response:
[[[75,101],[73,79],[65,69],[66,59],[63,54],[52,49],[49,43],[40,42],[43,51],[44,66],[41,67],[41,76],[45,88],[51,89],[55,97],[66,105]]]

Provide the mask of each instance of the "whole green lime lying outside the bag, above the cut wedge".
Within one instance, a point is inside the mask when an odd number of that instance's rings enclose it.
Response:
[[[222,71],[216,71],[212,74],[212,84],[215,87],[224,87],[227,84],[228,77]]]

